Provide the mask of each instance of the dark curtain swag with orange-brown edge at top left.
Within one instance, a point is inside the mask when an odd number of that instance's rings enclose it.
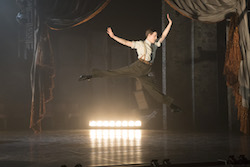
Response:
[[[39,7],[53,30],[80,25],[100,13],[111,0],[40,0]]]

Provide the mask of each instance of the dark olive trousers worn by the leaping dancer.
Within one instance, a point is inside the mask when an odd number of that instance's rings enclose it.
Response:
[[[170,106],[173,102],[173,98],[164,95],[157,88],[154,83],[153,77],[149,77],[151,72],[151,65],[145,64],[139,60],[130,64],[129,66],[122,67],[115,70],[99,70],[94,69],[92,71],[93,78],[97,77],[132,77],[138,79],[143,88],[158,102],[164,103]]]

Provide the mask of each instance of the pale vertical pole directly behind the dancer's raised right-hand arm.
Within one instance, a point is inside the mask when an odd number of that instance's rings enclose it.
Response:
[[[161,17],[161,26],[162,26],[162,31],[166,27],[166,3],[164,0],[162,0],[162,17]],[[166,40],[162,42],[162,93],[166,95]],[[167,106],[166,104],[163,104],[162,106],[162,122],[163,122],[163,129],[167,129]]]

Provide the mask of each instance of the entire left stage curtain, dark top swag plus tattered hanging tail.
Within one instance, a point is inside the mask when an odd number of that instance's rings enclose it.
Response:
[[[111,0],[36,0],[34,55],[30,71],[32,104],[30,128],[42,130],[46,103],[53,99],[54,56],[49,29],[63,30],[78,26],[95,17]]]

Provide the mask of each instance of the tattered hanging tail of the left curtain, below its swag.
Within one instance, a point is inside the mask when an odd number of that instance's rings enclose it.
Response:
[[[30,128],[39,133],[41,121],[46,114],[45,104],[53,98],[55,69],[48,28],[41,28],[36,33],[37,41],[30,72],[32,90]]]

